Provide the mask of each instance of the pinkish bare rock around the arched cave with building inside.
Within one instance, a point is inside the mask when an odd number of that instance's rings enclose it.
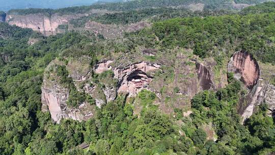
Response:
[[[115,77],[119,80],[118,92],[134,96],[137,92],[148,87],[152,76],[147,72],[159,69],[160,65],[149,62],[135,63],[123,68],[115,68]]]

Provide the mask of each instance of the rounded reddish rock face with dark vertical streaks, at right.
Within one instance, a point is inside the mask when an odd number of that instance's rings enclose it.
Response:
[[[237,51],[228,63],[228,71],[249,89],[257,84],[260,77],[258,62],[246,51]]]

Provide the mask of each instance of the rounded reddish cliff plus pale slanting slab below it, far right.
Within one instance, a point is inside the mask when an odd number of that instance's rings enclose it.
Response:
[[[248,88],[248,94],[239,101],[238,112],[243,121],[249,118],[255,107],[265,102],[269,106],[269,114],[275,109],[275,87],[269,83],[270,73],[260,75],[260,67],[253,56],[245,51],[237,51],[228,64],[228,71],[243,82]],[[272,72],[272,71],[271,71]],[[271,75],[272,76],[272,75]]]

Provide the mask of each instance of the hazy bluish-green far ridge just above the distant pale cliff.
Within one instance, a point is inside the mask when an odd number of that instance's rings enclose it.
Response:
[[[260,2],[265,2],[262,0],[251,1],[241,1],[245,4],[259,4]],[[91,9],[106,9],[109,11],[130,11],[130,10],[140,10],[146,8],[162,8],[162,7],[178,7],[187,6],[189,4],[202,3],[205,4],[205,9],[233,9],[232,1],[229,0],[143,0],[143,1],[128,1],[119,3],[97,3],[91,6],[81,6],[81,7],[69,7],[62,9],[13,9],[8,11],[9,14],[34,14],[34,13],[44,13],[46,15],[51,15],[54,13],[58,14],[70,14],[70,13],[87,13]],[[239,1],[236,1],[239,3]]]

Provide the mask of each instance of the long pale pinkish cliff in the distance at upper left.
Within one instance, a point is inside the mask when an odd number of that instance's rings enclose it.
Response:
[[[34,31],[41,32],[45,35],[56,34],[56,29],[60,24],[68,23],[70,19],[84,16],[77,15],[58,15],[53,14],[46,16],[44,14],[28,14],[28,15],[7,15],[7,22],[11,25],[15,24],[21,28],[30,28]]]

